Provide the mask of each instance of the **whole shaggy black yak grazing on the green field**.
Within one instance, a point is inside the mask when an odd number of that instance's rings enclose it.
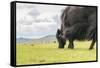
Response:
[[[74,48],[74,40],[92,40],[89,49],[93,49],[97,41],[97,7],[69,6],[61,16],[61,29],[57,30],[56,38],[59,48],[64,48],[66,40],[68,48]]]

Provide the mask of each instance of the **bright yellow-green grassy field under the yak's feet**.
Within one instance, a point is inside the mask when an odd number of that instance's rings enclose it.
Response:
[[[91,41],[75,42],[75,49],[58,49],[57,43],[17,43],[17,65],[96,60],[96,48],[88,50]]]

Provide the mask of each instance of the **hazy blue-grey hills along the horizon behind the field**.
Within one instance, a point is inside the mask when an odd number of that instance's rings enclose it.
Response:
[[[55,35],[48,35],[39,39],[27,39],[27,38],[18,38],[16,39],[17,43],[31,43],[31,42],[50,42],[56,40]]]

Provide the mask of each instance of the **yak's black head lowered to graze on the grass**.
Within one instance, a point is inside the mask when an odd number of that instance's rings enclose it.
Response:
[[[57,30],[56,38],[59,43],[59,48],[64,48],[66,40],[62,38],[62,31],[60,29]]]

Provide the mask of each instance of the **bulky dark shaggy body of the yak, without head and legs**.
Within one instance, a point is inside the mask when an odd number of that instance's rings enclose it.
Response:
[[[68,30],[68,37],[83,40],[96,35],[96,7],[70,6],[62,13],[61,30]]]

